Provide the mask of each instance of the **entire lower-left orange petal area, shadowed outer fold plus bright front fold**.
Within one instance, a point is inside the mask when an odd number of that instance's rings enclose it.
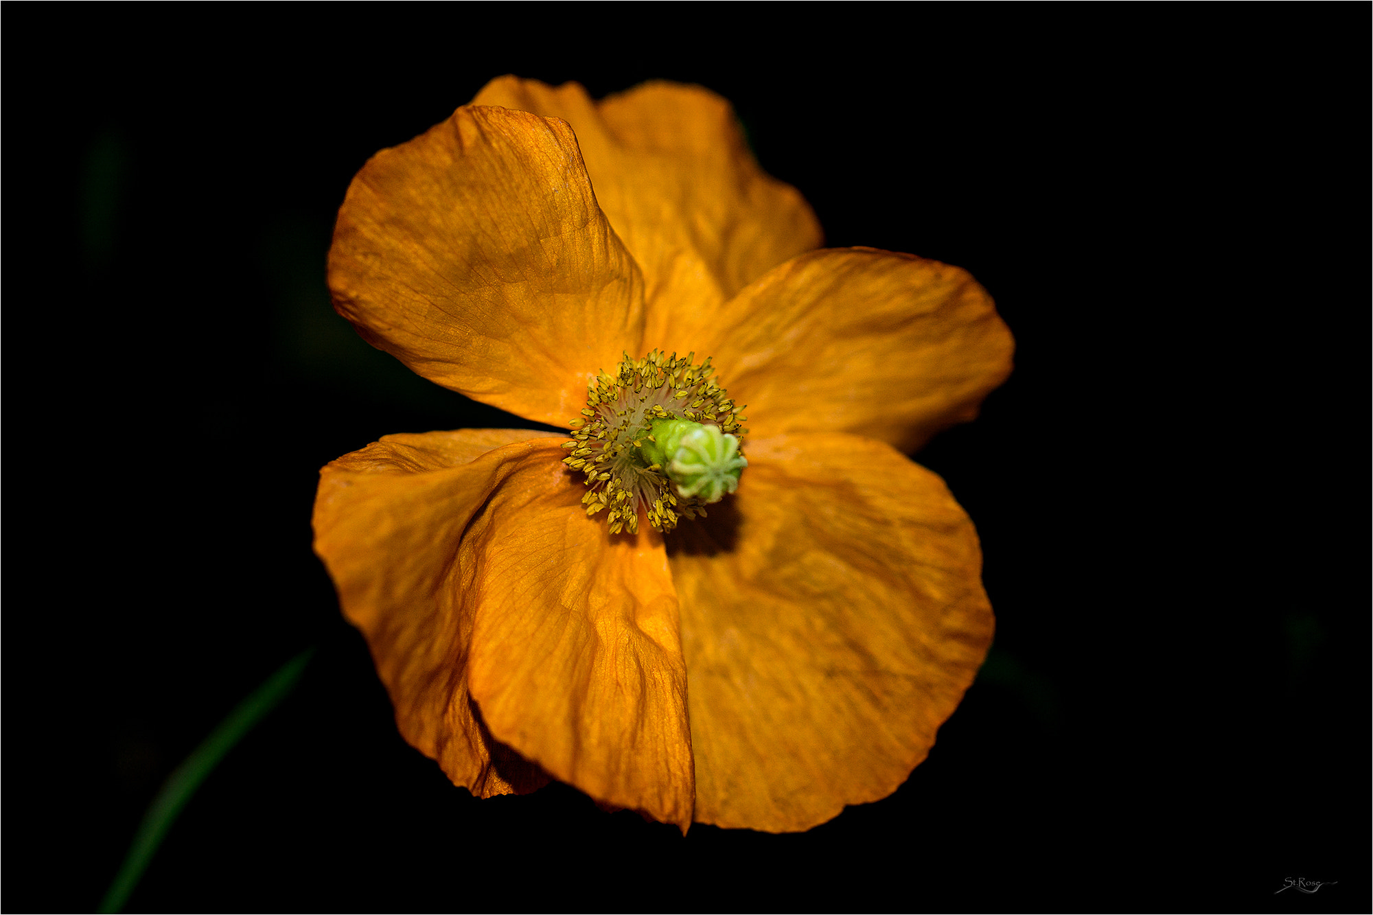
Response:
[[[538,769],[682,830],[693,768],[662,540],[586,517],[563,440],[387,436],[328,464],[316,552],[401,734],[476,794]],[[504,747],[518,753],[504,753]]]

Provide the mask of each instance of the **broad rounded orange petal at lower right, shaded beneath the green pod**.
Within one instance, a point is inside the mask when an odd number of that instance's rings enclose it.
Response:
[[[806,830],[891,794],[991,643],[943,481],[857,436],[755,440],[733,500],[677,533],[696,819]]]

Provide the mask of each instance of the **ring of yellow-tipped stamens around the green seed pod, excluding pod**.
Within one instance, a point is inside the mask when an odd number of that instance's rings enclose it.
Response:
[[[747,419],[743,407],[711,378],[710,359],[692,365],[695,357],[669,357],[656,349],[643,359],[625,353],[614,376],[601,372],[586,386],[582,419],[571,422],[573,441],[563,445],[573,453],[563,463],[586,474],[582,504],[588,517],[608,508],[611,533],[636,533],[640,510],[655,530],[671,530],[680,515],[706,517],[702,500],[674,492],[665,468],[640,451],[645,441],[656,441],[654,420],[708,423],[739,438],[747,431],[739,426]]]

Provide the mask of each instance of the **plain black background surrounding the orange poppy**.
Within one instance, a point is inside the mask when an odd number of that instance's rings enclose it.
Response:
[[[316,644],[132,911],[1368,911],[1369,19],[7,5],[0,904],[93,908],[162,779]],[[556,784],[474,801],[395,734],[316,471],[526,423],[361,343],[324,256],[362,162],[503,73],[707,85],[828,245],[965,267],[1015,332],[916,456],[997,643],[886,801],[682,839]]]

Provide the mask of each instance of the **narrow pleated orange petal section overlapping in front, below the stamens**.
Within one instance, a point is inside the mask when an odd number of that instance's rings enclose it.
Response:
[[[579,478],[529,460],[463,537],[470,683],[492,734],[599,801],[691,824],[677,592],[659,534],[611,536]]]

